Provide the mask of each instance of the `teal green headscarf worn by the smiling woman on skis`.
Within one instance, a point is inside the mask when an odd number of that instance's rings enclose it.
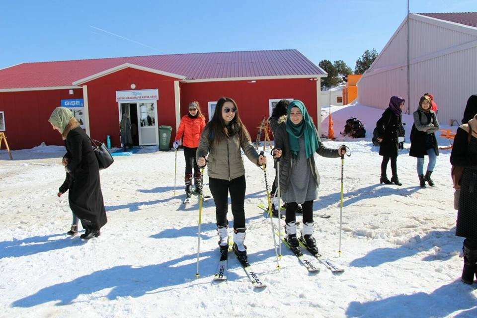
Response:
[[[298,107],[298,109],[300,109],[302,112],[303,119],[298,125],[292,123],[290,119],[290,110],[293,107]],[[298,157],[298,153],[300,152],[298,139],[302,136],[305,139],[305,155],[307,159],[312,157],[313,154],[318,150],[318,137],[316,134],[315,125],[313,125],[312,119],[305,108],[305,104],[301,100],[294,100],[288,105],[287,132],[288,143],[290,144],[290,152],[295,157]]]

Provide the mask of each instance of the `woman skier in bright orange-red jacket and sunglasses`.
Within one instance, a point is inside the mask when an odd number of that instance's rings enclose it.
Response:
[[[200,169],[195,161],[195,153],[199,146],[199,139],[202,130],[205,127],[205,117],[200,111],[199,102],[193,101],[189,104],[189,113],[182,116],[175,135],[175,141],[172,144],[174,149],[179,147],[179,141],[182,139],[182,148],[185,158],[185,193],[188,198],[192,194],[192,165],[194,165],[194,184],[196,193],[200,192]]]

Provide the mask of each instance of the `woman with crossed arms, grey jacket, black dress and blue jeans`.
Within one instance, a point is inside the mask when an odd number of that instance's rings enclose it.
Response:
[[[439,156],[439,148],[434,135],[434,132],[439,130],[439,122],[431,105],[432,101],[428,95],[423,95],[419,99],[419,106],[413,113],[414,124],[410,135],[409,156],[417,158],[417,176],[421,188],[426,187],[426,181],[431,187],[434,186],[431,174],[434,171],[437,156]],[[424,175],[424,156],[429,157],[426,175]]]

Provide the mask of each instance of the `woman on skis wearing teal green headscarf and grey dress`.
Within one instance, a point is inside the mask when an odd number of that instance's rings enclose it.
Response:
[[[326,148],[318,137],[317,129],[305,104],[294,100],[288,105],[286,122],[280,124],[275,134],[274,157],[280,159],[280,192],[287,203],[285,232],[288,244],[300,249],[297,238],[296,210],[303,208],[303,229],[300,240],[312,253],[318,253],[313,238],[313,201],[318,198],[319,174],[314,154],[327,158],[339,158],[346,153]]]

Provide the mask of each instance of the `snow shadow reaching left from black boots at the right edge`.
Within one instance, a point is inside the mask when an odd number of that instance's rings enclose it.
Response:
[[[424,257],[423,261],[447,260],[458,254],[462,248],[462,239],[455,236],[455,228],[447,231],[431,231],[422,238],[415,236],[397,248],[377,248],[367,255],[353,260],[352,267],[377,267],[381,264],[394,262],[400,258],[415,255],[421,251],[431,250],[439,246],[436,254]]]

